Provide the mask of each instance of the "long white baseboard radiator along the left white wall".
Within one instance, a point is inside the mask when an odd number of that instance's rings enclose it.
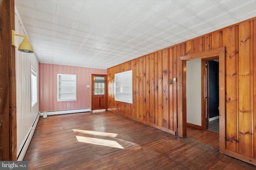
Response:
[[[34,135],[34,131],[35,131],[35,129],[36,129],[36,125],[37,125],[37,123],[38,123],[39,117],[40,117],[40,113],[38,113],[38,115],[36,116],[36,119],[35,119],[35,121],[34,121],[32,127],[30,127],[30,130],[28,131],[28,135],[27,135],[26,140],[25,140],[25,142],[24,142],[24,144],[23,144],[23,146],[22,146],[22,149],[21,149],[20,152],[17,154],[17,155],[18,155],[18,156],[17,156],[17,160],[18,160],[18,161],[22,161],[23,158],[24,158],[24,156],[25,156],[25,154],[26,154],[26,151],[27,151],[27,149],[28,149],[28,145],[30,144],[30,141],[31,141],[31,139],[32,139],[32,136]]]

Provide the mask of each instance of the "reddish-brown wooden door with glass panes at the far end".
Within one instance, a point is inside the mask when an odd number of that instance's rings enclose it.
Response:
[[[92,110],[107,109],[107,75],[92,74]]]

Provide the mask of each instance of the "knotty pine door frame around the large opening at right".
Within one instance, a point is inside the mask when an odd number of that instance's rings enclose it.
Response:
[[[178,130],[177,135],[186,137],[186,61],[219,56],[219,107],[220,107],[220,152],[225,153],[225,47],[219,47],[191,55],[184,55],[177,61],[178,86]]]

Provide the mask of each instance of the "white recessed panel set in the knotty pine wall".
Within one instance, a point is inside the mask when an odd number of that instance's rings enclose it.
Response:
[[[132,104],[132,70],[115,74],[115,100]]]

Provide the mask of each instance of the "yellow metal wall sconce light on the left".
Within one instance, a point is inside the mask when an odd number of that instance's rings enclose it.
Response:
[[[24,52],[24,53],[34,53],[34,50],[33,50],[33,47],[32,45],[30,44],[29,40],[28,40],[28,37],[25,36],[25,35],[19,35],[19,34],[16,34],[14,30],[12,30],[12,45],[17,48],[15,46],[15,41],[14,41],[14,35],[17,35],[17,36],[20,36],[20,37],[25,37],[23,39],[23,41],[20,43],[19,45],[19,48],[18,48],[18,51],[21,51],[21,52]]]

